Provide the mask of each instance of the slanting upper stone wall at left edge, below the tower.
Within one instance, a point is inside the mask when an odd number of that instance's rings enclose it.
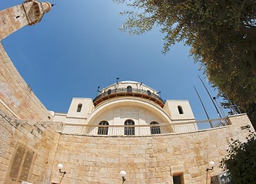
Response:
[[[12,117],[48,120],[51,113],[28,87],[0,43],[0,109]]]

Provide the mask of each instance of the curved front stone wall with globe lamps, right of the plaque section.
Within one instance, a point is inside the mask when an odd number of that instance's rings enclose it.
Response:
[[[52,169],[52,182],[58,183],[62,163],[67,174],[63,184],[121,183],[119,172],[127,172],[125,184],[173,183],[172,176],[183,174],[185,183],[210,183],[222,171],[219,162],[228,141],[245,140],[251,125],[246,115],[229,118],[231,125],[194,133],[156,136],[75,136],[62,134]],[[251,129],[253,130],[252,126]],[[212,171],[206,172],[214,161]],[[208,179],[208,181],[206,181]]]

